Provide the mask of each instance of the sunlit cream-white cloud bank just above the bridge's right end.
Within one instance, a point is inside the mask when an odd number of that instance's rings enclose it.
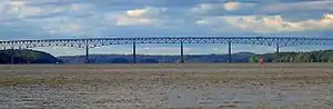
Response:
[[[295,22],[286,21],[281,16],[222,17],[222,19],[239,29],[254,32],[333,29],[333,14],[325,14],[321,19],[309,19]]]

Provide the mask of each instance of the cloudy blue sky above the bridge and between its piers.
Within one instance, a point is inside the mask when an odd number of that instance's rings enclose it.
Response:
[[[0,0],[0,40],[147,36],[333,34],[333,0]],[[32,48],[54,56],[79,48]],[[332,49],[297,46],[282,51]],[[265,46],[233,44],[233,52],[274,52]],[[131,53],[108,46],[91,53]],[[138,53],[176,54],[179,44],[139,44]],[[185,53],[226,53],[226,44],[185,44]]]

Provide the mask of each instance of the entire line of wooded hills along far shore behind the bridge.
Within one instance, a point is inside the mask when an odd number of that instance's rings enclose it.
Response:
[[[0,50],[0,63],[10,63],[10,50]],[[233,62],[258,62],[262,57],[266,62],[333,62],[333,50],[311,52],[281,52],[276,59],[275,53],[255,54],[252,52],[233,53]],[[132,54],[91,54],[91,63],[132,63]],[[84,56],[53,57],[50,53],[36,50],[14,50],[14,63],[83,63]],[[228,54],[186,54],[185,62],[228,62]],[[180,56],[138,54],[139,63],[175,63]]]

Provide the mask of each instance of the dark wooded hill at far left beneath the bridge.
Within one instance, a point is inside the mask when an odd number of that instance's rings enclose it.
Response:
[[[0,63],[11,62],[10,50],[0,50]],[[14,63],[57,63],[62,60],[53,57],[50,53],[36,50],[14,50]]]

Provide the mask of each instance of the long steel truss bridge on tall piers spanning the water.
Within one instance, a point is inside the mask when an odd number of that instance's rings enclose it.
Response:
[[[43,39],[0,41],[0,49],[28,49],[36,47],[75,47],[85,49],[85,63],[89,62],[89,49],[111,44],[132,44],[133,62],[137,62],[137,44],[180,43],[181,62],[184,62],[183,43],[228,43],[229,62],[232,62],[232,43],[262,44],[276,48],[276,57],[282,47],[299,44],[332,44],[333,38],[283,37],[283,36],[164,36],[134,38],[88,38],[88,39]],[[13,58],[12,58],[13,62]]]

